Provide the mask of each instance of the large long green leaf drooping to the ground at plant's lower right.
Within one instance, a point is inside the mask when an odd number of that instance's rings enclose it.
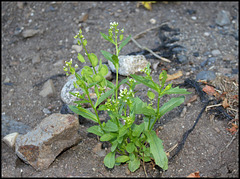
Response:
[[[155,131],[145,132],[148,137],[148,143],[150,144],[150,152],[153,155],[155,163],[163,170],[168,169],[168,158],[163,150],[161,139],[156,135]]]

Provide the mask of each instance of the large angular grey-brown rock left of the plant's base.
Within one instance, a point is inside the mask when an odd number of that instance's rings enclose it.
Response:
[[[36,170],[47,169],[55,158],[80,142],[78,119],[71,114],[52,114],[25,135],[18,135],[15,153]]]

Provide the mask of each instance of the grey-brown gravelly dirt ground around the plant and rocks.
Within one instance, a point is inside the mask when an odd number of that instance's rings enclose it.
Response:
[[[56,94],[53,97],[39,95],[43,85],[33,87],[52,75],[64,73],[62,65],[56,63],[71,58],[77,62],[77,53],[72,45],[73,38],[79,28],[82,28],[88,40],[88,51],[95,53],[106,61],[100,50],[113,52],[109,43],[104,41],[99,32],[107,33],[109,23],[119,22],[119,28],[125,29],[125,34],[132,36],[162,23],[180,30],[178,44],[187,50],[187,63],[171,63],[160,61],[154,79],[162,68],[167,68],[169,74],[179,70],[183,76],[173,83],[182,83],[186,78],[196,78],[203,71],[200,64],[206,60],[206,53],[219,50],[214,64],[206,66],[206,70],[225,75],[223,69],[238,69],[238,2],[157,2],[152,5],[152,11],[143,6],[137,7],[137,1],[83,1],[83,2],[1,2],[1,98],[2,116],[10,120],[22,122],[33,128],[49,114],[43,112],[48,108],[51,113],[58,113],[63,102],[60,93],[67,77],[53,79]],[[221,10],[230,12],[231,23],[225,28],[215,24],[217,13]],[[87,16],[87,15],[88,16]],[[85,16],[84,16],[85,15]],[[85,19],[84,19],[85,18]],[[155,20],[155,21],[154,21]],[[22,31],[39,30],[29,38],[24,38]],[[153,29],[141,38],[138,43],[150,49],[159,45],[158,30]],[[121,51],[122,55],[139,51],[130,42]],[[195,57],[194,52],[199,56]],[[120,54],[120,55],[121,55]],[[40,61],[34,61],[39,55]],[[230,61],[223,60],[225,56],[233,57]],[[158,59],[148,59],[156,63]],[[81,68],[80,62],[78,63]],[[235,74],[236,76],[236,74]],[[238,76],[238,71],[237,71]],[[123,77],[121,77],[123,78]],[[147,88],[138,93],[146,98]],[[196,95],[194,88],[188,88],[192,94],[186,95],[186,100]],[[238,95],[238,94],[237,94]],[[167,97],[165,98],[165,100]],[[180,117],[184,104],[163,116],[163,129],[159,137],[163,140],[165,150],[178,143],[185,131],[194,124],[203,105],[198,97],[187,106],[186,114]],[[164,122],[165,121],[165,122]],[[228,120],[215,117],[210,120],[210,114],[204,112],[195,129],[188,136],[181,152],[169,162],[169,169],[160,173],[158,169],[146,164],[149,177],[186,177],[199,171],[202,177],[238,177],[239,176],[239,136],[226,130]],[[69,150],[61,153],[47,170],[36,171],[31,166],[21,162],[9,147],[1,142],[1,173],[2,177],[145,177],[143,167],[134,173],[129,173],[127,165],[115,166],[112,170],[104,167],[103,159],[93,152],[98,143],[89,135],[86,129],[91,125],[85,121],[80,125],[82,141]],[[158,127],[160,124],[156,124]],[[3,138],[3,136],[2,136]]]

